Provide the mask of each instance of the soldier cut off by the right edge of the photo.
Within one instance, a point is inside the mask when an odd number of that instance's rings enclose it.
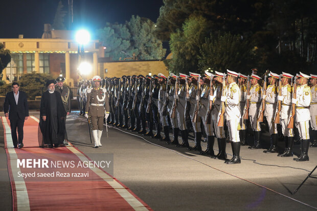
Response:
[[[311,103],[309,107],[311,116],[311,127],[314,132],[314,140],[310,147],[317,147],[317,75],[310,74],[311,90]]]

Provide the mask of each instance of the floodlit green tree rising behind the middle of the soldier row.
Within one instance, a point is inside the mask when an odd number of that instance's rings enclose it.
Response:
[[[192,16],[185,21],[182,30],[171,34],[170,48],[173,53],[172,60],[168,63],[169,70],[173,73],[196,72],[200,46],[205,42],[205,37],[210,33],[206,18]]]

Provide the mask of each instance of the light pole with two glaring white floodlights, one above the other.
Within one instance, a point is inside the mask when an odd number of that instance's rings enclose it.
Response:
[[[92,72],[92,65],[84,61],[84,45],[90,41],[90,34],[87,30],[78,30],[75,39],[78,42],[78,71],[81,77]]]

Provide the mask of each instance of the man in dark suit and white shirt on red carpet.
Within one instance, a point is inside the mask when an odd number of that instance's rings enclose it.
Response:
[[[28,119],[29,107],[27,101],[27,95],[24,91],[19,91],[19,84],[17,82],[12,83],[12,90],[6,95],[4,103],[5,116],[9,116],[11,136],[14,148],[21,149],[24,145],[23,141],[23,126],[24,121]],[[8,114],[9,111],[9,114]],[[17,139],[16,135],[19,135]]]

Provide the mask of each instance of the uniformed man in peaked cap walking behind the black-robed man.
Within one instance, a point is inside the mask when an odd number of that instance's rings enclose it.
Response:
[[[62,102],[63,102],[63,105],[64,105],[64,109],[65,109],[67,115],[69,115],[70,112],[71,112],[71,96],[70,96],[71,92],[70,92],[70,89],[68,87],[64,87],[63,86],[64,81],[65,81],[64,77],[58,77],[56,79],[57,88],[55,90],[60,93],[60,96],[62,98]],[[66,117],[67,117],[67,115],[64,118],[65,125],[66,125]],[[64,145],[68,145],[68,137],[67,137],[66,129],[65,129],[65,138],[64,138],[64,143],[63,144]]]

